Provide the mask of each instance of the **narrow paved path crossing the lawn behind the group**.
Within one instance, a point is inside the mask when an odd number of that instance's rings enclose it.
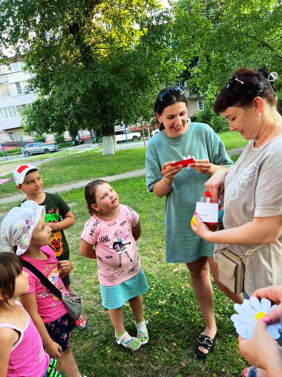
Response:
[[[242,153],[243,150],[244,150],[244,148],[231,149],[231,150],[228,150],[227,153],[228,153],[229,156],[233,156],[233,155],[236,155],[238,153]],[[44,162],[45,161],[46,160],[44,160]],[[55,193],[61,193],[61,192],[64,192],[64,191],[80,189],[80,187],[85,187],[85,185],[91,179],[93,180],[93,179],[101,178],[101,179],[104,179],[105,181],[113,182],[113,181],[118,181],[119,179],[134,178],[134,177],[139,177],[139,176],[142,176],[142,175],[145,175],[145,169],[133,170],[131,172],[126,172],[126,173],[121,173],[121,174],[116,174],[116,175],[109,175],[109,176],[106,176],[106,177],[91,177],[91,178],[87,179],[86,181],[79,181],[79,182],[76,182],[76,183],[66,183],[66,184],[63,184],[63,185],[55,185],[55,186],[52,186],[52,187],[48,187],[47,190],[48,190],[48,192],[55,194]],[[7,198],[1,199],[1,204],[10,203],[10,202],[14,202],[14,201],[20,201],[20,200],[23,200],[24,198],[25,198],[24,194],[8,196]]]

